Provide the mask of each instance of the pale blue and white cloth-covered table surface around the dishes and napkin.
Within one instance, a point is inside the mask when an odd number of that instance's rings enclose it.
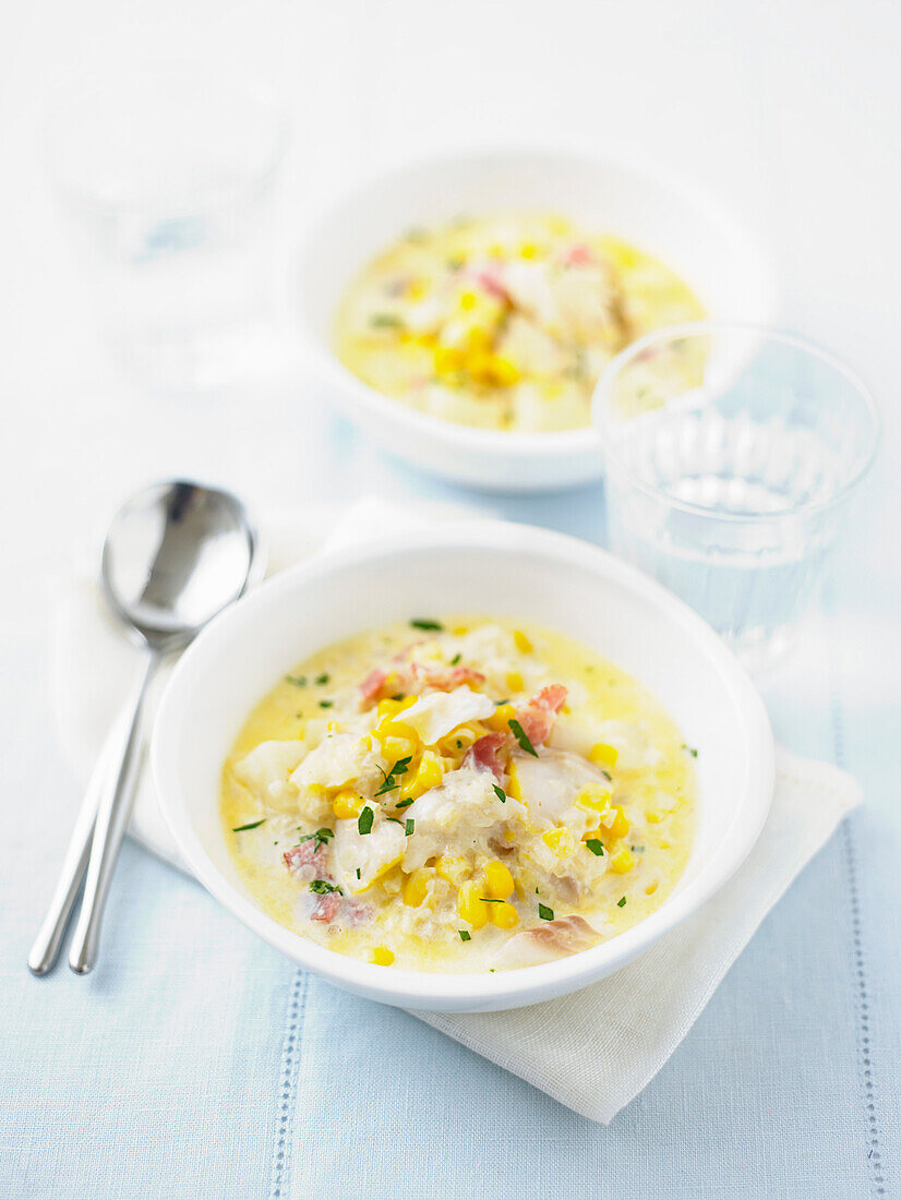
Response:
[[[897,1194],[900,38],[901,8],[877,0],[0,6],[0,1195]],[[47,623],[86,533],[137,484],[176,473],[259,505],[373,490],[473,500],[372,451],[277,358],[192,401],[112,366],[36,128],[76,71],[152,52],[282,91],[295,142],[280,230],[358,173],[425,149],[637,150],[757,230],[781,274],[782,323],[882,401],[884,452],[857,535],[763,689],[777,737],[847,767],[866,805],[609,1127],[304,977],[132,844],[95,974],[25,970],[78,800],[49,715]],[[589,487],[498,506],[596,538],[602,503]]]

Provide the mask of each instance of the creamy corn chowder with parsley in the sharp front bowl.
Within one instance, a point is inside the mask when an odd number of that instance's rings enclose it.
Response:
[[[566,637],[412,620],[277,684],[226,762],[222,817],[288,929],[386,967],[495,971],[660,906],[691,848],[693,754]]]

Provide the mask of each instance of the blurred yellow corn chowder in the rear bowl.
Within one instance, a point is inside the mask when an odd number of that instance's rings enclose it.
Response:
[[[590,422],[605,365],[663,325],[704,316],[667,266],[558,216],[415,229],[347,290],[342,362],[431,416],[491,430]]]

